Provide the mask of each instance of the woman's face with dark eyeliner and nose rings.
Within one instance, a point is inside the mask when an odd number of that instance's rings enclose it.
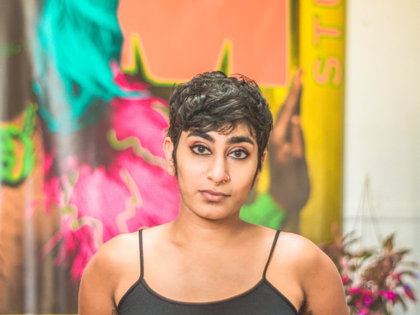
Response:
[[[171,164],[169,137],[164,149]],[[229,134],[183,131],[176,156],[181,212],[209,220],[238,215],[258,177],[257,140],[246,125],[237,125]],[[173,165],[170,170],[173,173]]]

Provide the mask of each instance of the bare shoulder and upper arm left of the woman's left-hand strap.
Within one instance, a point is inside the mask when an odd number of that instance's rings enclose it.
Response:
[[[103,244],[83,272],[79,314],[112,314],[115,293],[127,278],[127,272],[136,272],[138,256],[138,232],[118,235]]]

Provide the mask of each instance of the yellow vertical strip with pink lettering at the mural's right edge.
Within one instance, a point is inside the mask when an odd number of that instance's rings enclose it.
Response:
[[[330,240],[331,224],[341,222],[344,8],[342,0],[300,2],[302,125],[311,179],[300,231],[316,243]]]

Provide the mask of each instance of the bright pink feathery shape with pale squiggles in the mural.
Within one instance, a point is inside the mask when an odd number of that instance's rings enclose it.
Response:
[[[111,102],[107,139],[112,161],[92,167],[70,156],[59,178],[45,185],[47,205],[59,204],[61,211],[64,242],[57,261],[72,266],[75,280],[104,242],[169,222],[179,211],[177,179],[168,175],[162,149],[167,102],[150,95],[144,83],[114,74],[123,89],[135,93]],[[46,155],[50,168],[54,156]]]

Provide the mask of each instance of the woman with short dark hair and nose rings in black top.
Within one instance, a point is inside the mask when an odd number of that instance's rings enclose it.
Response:
[[[79,314],[348,314],[316,245],[239,218],[271,129],[248,78],[207,72],[178,86],[163,149],[179,216],[104,244],[84,271]]]

